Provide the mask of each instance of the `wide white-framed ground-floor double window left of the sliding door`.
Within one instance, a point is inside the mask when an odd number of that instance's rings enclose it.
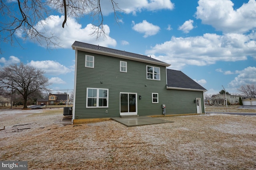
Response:
[[[87,88],[86,107],[108,107],[108,89]]]

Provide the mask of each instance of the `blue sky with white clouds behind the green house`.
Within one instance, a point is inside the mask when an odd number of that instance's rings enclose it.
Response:
[[[21,44],[1,42],[0,67],[27,63],[46,72],[50,89],[74,89],[74,41],[92,43],[170,63],[208,91],[217,94],[222,85],[229,93],[256,84],[256,0],[116,0],[121,12],[118,24],[109,1],[101,1],[106,39],[95,39],[92,19],[69,18],[53,13],[38,30],[60,37],[62,47],[46,49],[32,40]],[[2,19],[0,19],[2,20]],[[46,31],[45,31],[45,30]],[[0,33],[0,36],[1,35]],[[63,91],[62,91],[63,92]]]

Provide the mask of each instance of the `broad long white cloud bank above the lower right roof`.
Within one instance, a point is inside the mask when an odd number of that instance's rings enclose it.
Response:
[[[256,59],[256,41],[250,35],[204,34],[203,36],[176,38],[156,44],[146,51],[160,61],[172,64],[172,69],[184,65],[211,65],[217,61],[241,61],[247,56]]]

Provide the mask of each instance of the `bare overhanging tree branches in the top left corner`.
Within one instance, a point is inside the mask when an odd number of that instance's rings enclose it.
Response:
[[[114,19],[118,22],[119,12],[122,10],[114,0],[110,0],[110,3]],[[64,15],[63,28],[69,17],[90,16],[94,25],[92,35],[96,35],[97,38],[105,36],[100,0],[0,0],[0,32],[4,35],[0,37],[0,40],[13,44],[19,42],[16,35],[22,34],[24,40],[29,38],[39,43],[45,41],[47,47],[58,46],[59,44],[56,43],[59,40],[58,37],[54,34],[45,36],[44,32],[37,29],[37,25],[46,24],[42,20],[56,11]]]

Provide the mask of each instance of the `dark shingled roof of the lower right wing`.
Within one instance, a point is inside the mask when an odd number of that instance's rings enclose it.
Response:
[[[166,73],[168,87],[207,91],[206,89],[204,89],[204,87],[196,83],[196,81],[192,80],[186,74],[182,73],[182,71],[166,69]]]

